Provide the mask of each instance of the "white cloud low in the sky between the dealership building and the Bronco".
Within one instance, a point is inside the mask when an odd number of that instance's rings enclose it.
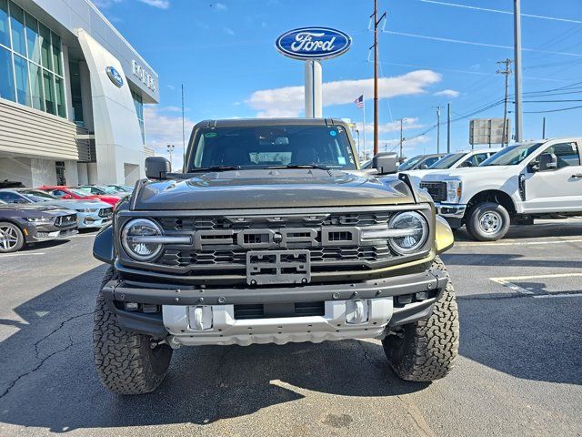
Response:
[[[172,168],[182,168],[182,117],[161,114],[160,110],[161,108],[156,106],[146,105],[144,107],[146,146],[153,148],[156,151],[156,155],[169,159],[167,145],[175,145],[176,148],[172,156]],[[186,143],[194,125],[194,121],[185,118],[184,131]]]

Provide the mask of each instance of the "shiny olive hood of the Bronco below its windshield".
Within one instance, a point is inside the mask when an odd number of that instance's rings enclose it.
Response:
[[[347,207],[414,203],[406,183],[361,172],[316,168],[210,172],[150,182],[136,190],[134,209]]]

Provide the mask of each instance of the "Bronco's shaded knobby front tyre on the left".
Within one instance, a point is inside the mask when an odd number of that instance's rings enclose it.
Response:
[[[116,277],[115,269],[110,267],[102,288]],[[166,344],[154,345],[150,337],[122,329],[101,292],[95,306],[93,348],[99,379],[117,394],[156,390],[164,381],[172,358],[172,349]]]

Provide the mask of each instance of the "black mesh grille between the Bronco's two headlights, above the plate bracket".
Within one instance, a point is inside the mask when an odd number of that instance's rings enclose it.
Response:
[[[371,269],[396,254],[386,239],[362,242],[359,234],[370,227],[386,227],[393,214],[162,217],[158,222],[167,235],[192,233],[194,243],[188,247],[168,245],[156,264],[224,274],[226,270],[245,270],[249,250],[308,249],[314,271]]]

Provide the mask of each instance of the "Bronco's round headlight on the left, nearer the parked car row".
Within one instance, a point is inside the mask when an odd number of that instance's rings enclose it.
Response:
[[[161,236],[162,229],[155,221],[133,219],[125,225],[121,233],[121,242],[131,258],[148,261],[156,258],[162,250]]]

